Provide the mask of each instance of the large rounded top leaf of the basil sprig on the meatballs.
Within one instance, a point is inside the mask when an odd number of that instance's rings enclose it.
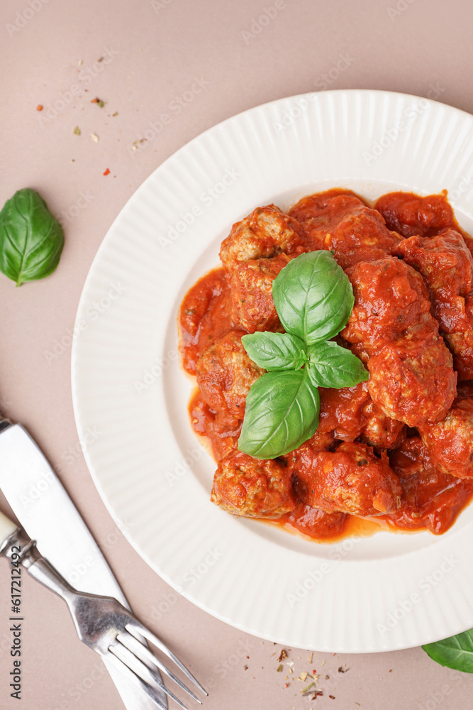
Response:
[[[333,338],[355,304],[350,280],[331,251],[289,261],[272,283],[272,297],[284,329],[306,344]]]

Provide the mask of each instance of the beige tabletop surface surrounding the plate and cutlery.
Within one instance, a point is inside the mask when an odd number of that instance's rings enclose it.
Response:
[[[128,197],[165,158],[218,121],[325,88],[430,97],[435,91],[440,101],[473,112],[473,7],[466,0],[279,0],[272,21],[257,32],[258,18],[272,6],[273,0],[1,4],[0,204],[21,187],[39,190],[65,222],[66,246],[47,280],[16,289],[0,275],[0,406],[60,467],[135,613],[172,642],[211,690],[208,710],[467,709],[473,679],[439,667],[419,648],[314,653],[311,662],[306,650],[291,649],[286,661],[294,662],[294,674],[286,681],[288,666],[276,672],[281,647],[178,599],[118,532],[91,481],[72,413],[70,347],[54,359],[47,355],[72,329],[94,254]],[[336,70],[340,58],[343,69]],[[201,92],[185,94],[179,111],[176,97],[196,78]],[[105,107],[92,104],[94,97]],[[55,104],[57,115],[49,108]],[[159,135],[136,144],[165,113],[171,120]],[[1,708],[120,709],[99,658],[77,641],[65,605],[28,579],[22,591],[20,704],[9,697],[9,575],[0,560]],[[153,605],[166,599],[169,611],[153,619]],[[316,701],[301,697],[303,684],[292,680],[313,669],[324,693]]]

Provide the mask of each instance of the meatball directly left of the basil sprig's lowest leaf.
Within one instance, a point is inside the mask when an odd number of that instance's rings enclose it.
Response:
[[[243,420],[245,400],[252,383],[265,371],[247,356],[243,331],[230,330],[201,355],[196,364],[202,398],[230,420]]]

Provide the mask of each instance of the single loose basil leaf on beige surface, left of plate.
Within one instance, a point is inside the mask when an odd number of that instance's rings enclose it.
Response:
[[[20,286],[55,270],[64,246],[62,227],[38,192],[15,192],[0,212],[0,271]]]

